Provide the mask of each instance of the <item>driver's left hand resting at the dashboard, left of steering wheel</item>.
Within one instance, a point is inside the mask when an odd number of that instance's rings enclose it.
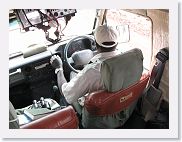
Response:
[[[63,63],[61,58],[58,55],[53,55],[50,59],[50,63],[52,65],[53,68],[55,69],[62,69],[63,68]]]

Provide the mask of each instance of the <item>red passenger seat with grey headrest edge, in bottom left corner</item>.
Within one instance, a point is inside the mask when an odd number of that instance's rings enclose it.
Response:
[[[68,106],[45,117],[19,126],[15,109],[10,102],[9,128],[10,129],[77,129],[78,118],[72,106]]]

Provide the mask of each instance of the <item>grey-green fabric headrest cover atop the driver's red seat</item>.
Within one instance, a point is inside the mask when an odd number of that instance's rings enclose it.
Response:
[[[108,92],[136,83],[143,72],[143,54],[138,48],[107,59],[101,64],[101,79]]]

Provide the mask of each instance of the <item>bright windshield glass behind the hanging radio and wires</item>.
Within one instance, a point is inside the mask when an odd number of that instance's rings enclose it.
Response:
[[[10,10],[9,13],[12,13]],[[75,16],[71,17],[68,24],[65,24],[64,17],[59,18],[59,24],[62,28],[61,41],[72,36],[85,35],[92,33],[96,9],[77,9]],[[9,55],[13,56],[22,53],[24,49],[33,44],[45,43],[51,44],[46,40],[45,33],[41,29],[31,27],[29,31],[22,30],[16,15],[9,17]],[[55,28],[51,27],[49,36],[55,38]]]

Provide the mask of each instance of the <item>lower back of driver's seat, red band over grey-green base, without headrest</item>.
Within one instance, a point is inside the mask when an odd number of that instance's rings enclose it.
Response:
[[[100,90],[86,97],[82,110],[85,128],[117,128],[131,116],[138,98],[142,95],[150,75],[143,75],[139,82],[115,93]]]

